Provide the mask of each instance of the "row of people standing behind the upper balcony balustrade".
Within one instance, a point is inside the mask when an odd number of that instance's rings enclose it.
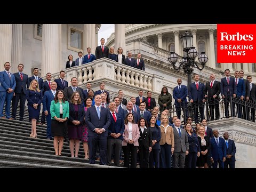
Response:
[[[117,54],[115,53],[115,48],[110,47],[108,49],[107,46],[105,46],[105,39],[100,39],[101,45],[97,46],[95,49],[95,55],[91,54],[91,48],[87,47],[87,54],[83,57],[83,52],[78,52],[78,58],[73,60],[73,55],[68,55],[68,61],[66,63],[66,69],[74,66],[81,66],[83,64],[92,62],[96,59],[100,58],[109,58],[111,60],[114,60],[118,63],[134,67],[137,69],[145,70],[145,63],[144,60],[141,59],[141,54],[137,54],[137,59],[132,58],[132,52],[128,52],[128,57],[125,58],[125,55],[123,54],[123,48],[118,47]]]

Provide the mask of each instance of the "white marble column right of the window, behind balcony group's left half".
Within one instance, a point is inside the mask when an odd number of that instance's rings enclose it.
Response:
[[[84,55],[87,53],[87,47],[91,48],[91,53],[95,54],[95,49],[98,45],[95,44],[95,38],[96,38],[96,34],[95,34],[95,24],[84,24]],[[106,39],[105,39],[106,42]]]

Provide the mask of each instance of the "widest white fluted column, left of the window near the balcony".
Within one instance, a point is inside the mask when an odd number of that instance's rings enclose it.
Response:
[[[42,34],[41,76],[61,69],[61,24],[44,24]]]

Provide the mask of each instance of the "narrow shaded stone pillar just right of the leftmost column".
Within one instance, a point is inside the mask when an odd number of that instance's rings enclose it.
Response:
[[[18,71],[18,65],[22,59],[22,24],[12,26],[12,73]],[[24,63],[22,63],[25,65]],[[28,70],[28,69],[27,69]]]

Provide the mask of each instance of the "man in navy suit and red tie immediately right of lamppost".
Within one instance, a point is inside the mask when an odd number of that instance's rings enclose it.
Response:
[[[198,123],[198,108],[200,111],[200,119],[204,119],[204,83],[199,82],[199,75],[195,75],[195,82],[191,83],[188,97],[190,103],[192,103],[192,108],[194,109],[194,119],[195,123]]]

